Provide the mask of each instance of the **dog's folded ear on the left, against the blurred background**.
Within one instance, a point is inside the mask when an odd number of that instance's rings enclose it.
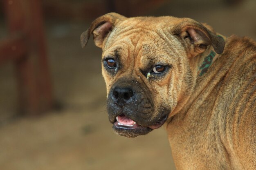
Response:
[[[83,32],[80,36],[81,46],[85,47],[90,35],[93,34],[93,40],[96,46],[102,47],[103,42],[112,31],[117,22],[125,20],[126,17],[119,15],[118,13],[107,13],[92,22],[89,29]]]

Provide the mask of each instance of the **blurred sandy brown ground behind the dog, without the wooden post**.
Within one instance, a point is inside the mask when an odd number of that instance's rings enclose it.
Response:
[[[190,17],[223,35],[256,40],[256,1],[235,7],[220,1],[195,2],[173,1],[150,15]],[[88,24],[46,22],[54,93],[62,110],[37,118],[17,117],[12,65],[0,67],[0,170],[175,170],[164,128],[135,139],[112,131],[101,50],[92,40],[85,49],[79,44]],[[0,25],[0,38],[4,33]]]

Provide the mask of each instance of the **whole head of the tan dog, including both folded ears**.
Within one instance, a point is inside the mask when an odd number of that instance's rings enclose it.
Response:
[[[224,42],[189,18],[126,18],[108,13],[81,35],[102,48],[108,117],[119,135],[137,137],[159,128],[186,102],[194,86],[194,57]]]

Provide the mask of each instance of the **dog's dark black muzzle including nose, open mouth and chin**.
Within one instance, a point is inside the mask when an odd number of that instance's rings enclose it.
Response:
[[[161,127],[168,112],[155,114],[150,91],[137,86],[115,86],[108,95],[108,117],[117,134],[125,137],[146,135]]]

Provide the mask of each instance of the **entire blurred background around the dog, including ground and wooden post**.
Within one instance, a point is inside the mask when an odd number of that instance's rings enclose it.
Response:
[[[106,113],[100,15],[172,15],[256,40],[255,0],[1,0],[0,170],[175,170],[164,128],[128,139]]]

